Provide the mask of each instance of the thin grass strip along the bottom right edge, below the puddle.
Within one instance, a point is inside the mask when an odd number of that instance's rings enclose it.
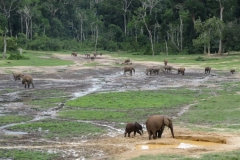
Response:
[[[237,160],[240,159],[240,151],[203,154],[199,158],[184,155],[142,155],[132,160]]]

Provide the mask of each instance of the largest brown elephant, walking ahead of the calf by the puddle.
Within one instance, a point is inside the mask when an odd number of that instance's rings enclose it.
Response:
[[[172,137],[174,138],[172,119],[166,115],[150,116],[146,121],[149,140],[152,136],[153,139],[156,139],[157,137],[161,138],[165,126],[171,129]]]

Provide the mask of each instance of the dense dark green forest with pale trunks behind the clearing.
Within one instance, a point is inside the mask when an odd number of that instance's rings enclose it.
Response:
[[[240,50],[239,0],[0,0],[0,49],[221,55]]]

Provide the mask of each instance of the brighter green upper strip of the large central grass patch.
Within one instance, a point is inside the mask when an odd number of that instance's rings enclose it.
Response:
[[[170,108],[191,103],[199,91],[154,90],[154,91],[129,91],[90,94],[66,104],[77,108],[98,109],[136,109],[136,108]],[[94,101],[93,101],[94,99]]]

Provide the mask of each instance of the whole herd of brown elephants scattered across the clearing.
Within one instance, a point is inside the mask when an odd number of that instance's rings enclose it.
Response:
[[[85,56],[89,57],[91,60],[94,60],[96,58],[96,56],[98,55],[98,53],[94,53],[93,56],[91,56],[90,54],[86,54]],[[100,56],[102,56],[102,53],[99,53]],[[77,57],[77,53],[73,52],[71,54],[71,56],[75,56]],[[170,65],[167,65],[168,60],[164,60],[164,68],[162,69],[163,72],[171,72],[173,67]],[[130,75],[132,75],[132,71],[135,72],[135,69],[133,68],[131,60],[130,59],[126,59],[123,63],[121,64],[125,64],[126,66],[124,66],[123,71],[124,71],[124,75],[126,72],[130,72]],[[150,74],[159,74],[160,72],[160,68],[159,67],[148,67],[146,69],[146,75]],[[185,68],[178,68],[178,74],[182,74],[184,75],[185,72]],[[206,74],[210,74],[211,72],[211,67],[205,67],[205,73]],[[231,69],[230,73],[234,74],[235,70]],[[33,78],[31,75],[24,75],[23,73],[20,72],[14,72],[13,73],[13,78],[14,80],[22,80],[22,84],[25,86],[25,88],[28,86],[28,88],[30,87],[30,85],[32,85],[32,87],[34,88],[34,84],[33,84]],[[153,137],[153,139],[156,138],[161,138],[162,133],[164,131],[165,126],[169,127],[172,133],[172,137],[174,138],[174,132],[173,132],[173,124],[172,124],[172,119],[169,118],[166,115],[153,115],[150,116],[147,121],[146,121],[146,129],[149,135],[149,140]],[[139,133],[140,135],[143,134],[143,127],[142,125],[140,125],[137,122],[130,122],[127,123],[126,128],[125,128],[125,137],[126,134],[128,134],[128,137],[130,137],[131,132],[134,132],[134,136],[136,135],[136,133]]]

